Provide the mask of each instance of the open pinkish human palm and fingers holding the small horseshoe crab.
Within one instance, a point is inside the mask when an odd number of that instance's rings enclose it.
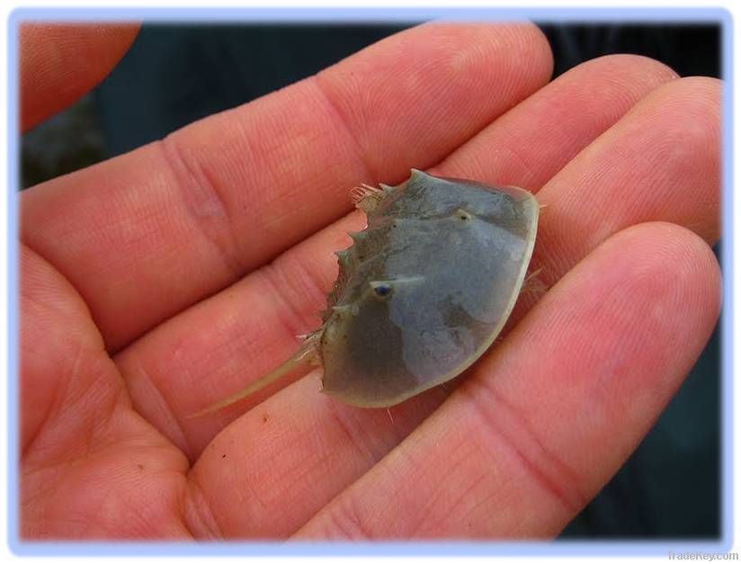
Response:
[[[45,37],[22,36],[22,74],[52,88]],[[632,56],[550,71],[533,26],[424,25],[23,192],[22,535],[556,535],[718,318],[720,84]],[[58,110],[39,92],[24,108]],[[362,226],[348,187],[412,166],[537,192],[549,291],[460,386],[392,417],[311,373],[187,419],[317,327]]]

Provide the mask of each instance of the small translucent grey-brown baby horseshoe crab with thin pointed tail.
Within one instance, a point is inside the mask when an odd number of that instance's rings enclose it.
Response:
[[[327,296],[323,324],[274,371],[195,416],[263,388],[300,363],[323,366],[323,391],[390,407],[451,380],[492,345],[522,289],[540,207],[526,190],[412,169],[398,186],[353,191],[368,227]]]

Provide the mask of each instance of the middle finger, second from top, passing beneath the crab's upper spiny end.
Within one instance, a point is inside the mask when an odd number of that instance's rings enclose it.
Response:
[[[504,184],[532,186],[537,179],[529,166],[522,165],[522,155],[540,156],[537,164],[543,178],[556,174],[633,103],[673,77],[666,67],[647,58],[619,56],[586,63],[560,76],[480,133],[492,143],[490,148],[480,145],[477,137],[460,149],[460,157],[451,157],[446,163],[451,163],[455,173],[466,155],[473,166],[486,162],[488,150],[497,156]],[[584,92],[603,96],[596,101]],[[574,106],[569,105],[571,101]],[[549,122],[556,109],[566,107],[571,108],[570,113],[559,110],[563,113],[559,133],[544,135],[542,124]],[[555,135],[569,140],[558,142]],[[492,150],[502,147],[509,150]],[[563,154],[552,147],[562,148]],[[447,172],[447,168],[442,170]],[[469,175],[478,177],[471,170]],[[324,308],[326,292],[337,272],[332,251],[349,246],[346,232],[362,228],[363,221],[360,213],[338,221],[291,249],[271,267],[184,312],[120,354],[117,362],[138,410],[195,457],[228,421],[278,389],[280,384],[213,416],[184,421],[210,401],[272,370],[295,352],[296,335],[318,327],[317,312]],[[192,327],[210,330],[193,331]]]

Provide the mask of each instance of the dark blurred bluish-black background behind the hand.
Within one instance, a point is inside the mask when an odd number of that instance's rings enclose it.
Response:
[[[656,58],[680,76],[720,76],[718,25],[539,25],[554,52],[554,76],[611,53]],[[23,136],[22,187],[161,139],[406,27],[144,25],[102,85]],[[719,537],[719,373],[716,328],[653,430],[561,538]]]

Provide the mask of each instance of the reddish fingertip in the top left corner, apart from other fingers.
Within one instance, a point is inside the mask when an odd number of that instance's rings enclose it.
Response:
[[[75,103],[119,62],[138,24],[24,23],[20,29],[21,127]]]

